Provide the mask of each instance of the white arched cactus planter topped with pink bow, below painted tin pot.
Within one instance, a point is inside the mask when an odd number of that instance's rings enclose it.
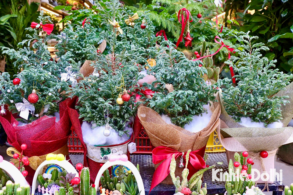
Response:
[[[111,175],[109,173],[111,168]],[[103,174],[103,176],[102,176]],[[99,183],[101,186],[99,187]],[[99,170],[96,189],[104,189],[106,194],[144,195],[143,180],[139,174],[139,165],[134,166],[125,154],[112,155]]]

